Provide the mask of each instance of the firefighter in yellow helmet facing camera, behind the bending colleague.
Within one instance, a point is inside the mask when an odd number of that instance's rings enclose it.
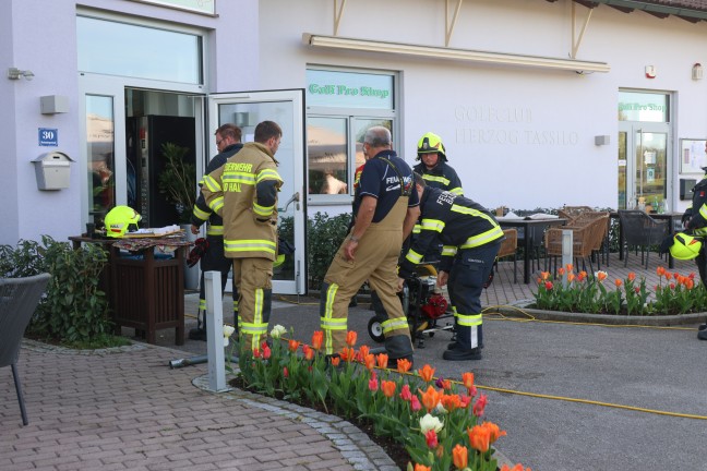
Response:
[[[455,195],[464,196],[462,180],[447,164],[446,150],[442,137],[426,133],[418,141],[417,160],[421,160],[412,170],[420,173],[428,186],[439,188]]]

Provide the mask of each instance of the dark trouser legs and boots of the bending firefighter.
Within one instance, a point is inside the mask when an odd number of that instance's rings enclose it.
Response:
[[[478,247],[460,249],[450,271],[447,290],[456,307],[456,341],[454,352],[471,352],[483,343],[481,316],[481,292],[493,269],[493,262],[501,242],[491,242]],[[470,360],[445,352],[446,360]],[[456,357],[463,357],[457,354]]]

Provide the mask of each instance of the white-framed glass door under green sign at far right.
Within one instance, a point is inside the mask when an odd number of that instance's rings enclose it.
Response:
[[[667,124],[620,123],[619,207],[660,210],[668,197]],[[642,200],[643,198],[643,200]]]

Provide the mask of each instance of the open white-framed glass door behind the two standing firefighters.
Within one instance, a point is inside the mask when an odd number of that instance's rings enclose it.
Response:
[[[275,121],[283,141],[275,158],[284,180],[278,197],[279,235],[295,253],[275,267],[273,292],[303,294],[307,289],[304,243],[304,89],[215,94],[208,101],[209,129],[233,123],[243,131],[243,142],[252,142],[255,126]]]

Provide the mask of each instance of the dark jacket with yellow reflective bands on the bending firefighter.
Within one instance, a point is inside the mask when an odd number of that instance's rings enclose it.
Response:
[[[415,273],[415,265],[422,262],[432,244],[441,242],[444,245],[440,270],[450,271],[458,250],[474,249],[503,238],[503,230],[491,213],[464,196],[426,186],[420,210],[422,230],[400,264],[403,278]]]

